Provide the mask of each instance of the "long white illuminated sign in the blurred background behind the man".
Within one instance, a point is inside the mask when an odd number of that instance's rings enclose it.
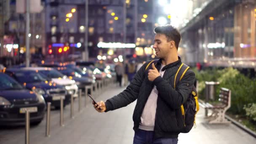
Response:
[[[99,42],[97,45],[99,48],[135,48],[134,43],[103,43]]]

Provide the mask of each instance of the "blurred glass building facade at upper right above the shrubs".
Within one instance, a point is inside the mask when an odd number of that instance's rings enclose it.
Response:
[[[200,11],[190,13],[192,19],[180,27],[187,63],[255,67],[256,0],[196,0],[194,4]]]

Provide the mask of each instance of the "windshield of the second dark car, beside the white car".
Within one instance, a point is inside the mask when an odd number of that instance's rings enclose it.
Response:
[[[35,83],[42,82],[46,79],[42,77],[38,72],[16,72],[15,76],[20,83]]]

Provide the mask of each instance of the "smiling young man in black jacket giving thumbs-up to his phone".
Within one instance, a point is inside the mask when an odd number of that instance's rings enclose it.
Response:
[[[123,92],[106,102],[100,101],[101,110],[94,105],[98,112],[108,112],[137,99],[133,112],[133,144],[178,143],[184,126],[180,107],[195,80],[195,73],[189,69],[174,89],[175,75],[182,64],[177,52],[180,40],[181,35],[171,25],[156,27],[153,48],[159,60],[155,64],[146,62]]]

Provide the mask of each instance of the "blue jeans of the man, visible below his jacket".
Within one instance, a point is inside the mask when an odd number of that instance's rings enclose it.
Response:
[[[133,144],[178,144],[178,138],[154,139],[154,131],[144,131],[139,129],[134,134]]]

